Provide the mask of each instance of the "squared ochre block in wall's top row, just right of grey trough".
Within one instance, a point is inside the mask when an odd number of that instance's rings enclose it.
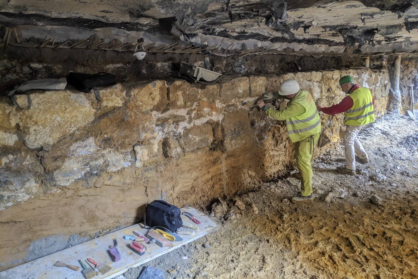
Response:
[[[221,84],[221,101],[229,104],[234,99],[245,99],[250,96],[248,77],[237,77]]]

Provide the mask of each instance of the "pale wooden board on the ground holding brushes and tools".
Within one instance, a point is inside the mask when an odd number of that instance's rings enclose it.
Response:
[[[108,266],[111,266],[112,269],[106,274],[94,276],[94,279],[103,279],[103,278],[113,278],[119,274],[124,273],[127,269],[135,266],[140,266],[146,262],[155,259],[165,253],[173,251],[174,249],[180,248],[181,246],[194,241],[202,236],[211,233],[218,228],[218,224],[210,219],[208,216],[201,213],[199,210],[194,209],[193,207],[183,207],[181,212],[190,212],[193,214],[196,219],[198,219],[201,224],[199,225],[199,230],[194,235],[180,235],[183,238],[183,241],[173,242],[174,247],[160,247],[157,244],[145,244],[147,245],[147,251],[143,256],[135,253],[130,247],[129,244],[132,241],[125,240],[123,237],[125,235],[134,235],[134,230],[143,230],[139,225],[133,225],[122,230],[117,230],[113,233],[101,236],[99,238],[86,241],[79,245],[67,248],[65,250],[53,253],[51,255],[45,256],[43,258],[30,261],[26,264],[21,264],[20,266],[15,266],[11,269],[0,272],[0,279],[38,279],[38,278],[84,278],[82,275],[82,267],[80,266],[77,260],[82,260],[85,263],[85,259],[92,258],[99,263],[105,263]],[[181,215],[184,222],[193,223],[189,218],[184,215]],[[194,223],[193,223],[194,224]],[[109,245],[113,245],[113,239],[116,238],[119,241],[119,251],[121,253],[120,261],[113,262],[110,258]],[[74,271],[66,267],[53,266],[56,261],[62,261],[66,264],[72,264],[75,266],[80,266],[79,271]],[[87,265],[87,264],[86,264]]]

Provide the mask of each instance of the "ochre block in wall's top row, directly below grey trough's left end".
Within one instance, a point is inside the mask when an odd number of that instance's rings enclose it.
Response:
[[[168,90],[170,108],[191,108],[197,102],[199,89],[192,87],[189,82],[176,80]]]

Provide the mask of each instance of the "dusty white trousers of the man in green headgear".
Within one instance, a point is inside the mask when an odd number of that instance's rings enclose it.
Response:
[[[347,125],[344,133],[344,153],[345,153],[345,167],[347,169],[356,170],[356,159],[357,155],[360,159],[368,159],[366,151],[362,144],[360,143],[357,135],[359,131],[363,128],[361,126]]]

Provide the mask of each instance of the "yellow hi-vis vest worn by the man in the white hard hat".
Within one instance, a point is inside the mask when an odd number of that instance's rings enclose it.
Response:
[[[316,110],[316,105],[311,94],[306,90],[301,90],[288,106],[301,104],[305,108],[302,115],[286,119],[289,138],[292,142],[302,141],[308,136],[316,135],[321,132],[321,118]]]

